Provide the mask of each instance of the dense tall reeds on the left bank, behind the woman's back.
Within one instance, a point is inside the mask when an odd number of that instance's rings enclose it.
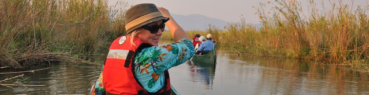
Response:
[[[0,67],[89,60],[125,34],[128,7],[106,0],[0,1]]]

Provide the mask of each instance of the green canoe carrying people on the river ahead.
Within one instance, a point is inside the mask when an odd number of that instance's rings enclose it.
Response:
[[[194,55],[191,58],[192,61],[199,61],[199,62],[204,62],[207,64],[213,64],[215,65],[216,62],[216,52],[215,52],[215,48],[213,48],[213,50],[211,50],[208,54],[205,55]]]

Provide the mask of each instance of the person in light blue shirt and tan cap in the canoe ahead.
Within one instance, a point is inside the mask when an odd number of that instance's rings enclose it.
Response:
[[[208,54],[216,46],[216,44],[213,43],[212,39],[213,36],[211,34],[208,34],[207,41],[204,41],[200,44],[195,54]]]

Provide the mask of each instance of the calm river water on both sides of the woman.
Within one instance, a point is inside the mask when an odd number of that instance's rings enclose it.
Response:
[[[170,69],[172,85],[185,95],[369,94],[368,73],[322,66],[309,60],[217,54],[215,67],[187,61]],[[0,93],[89,94],[100,69],[101,65],[52,64],[51,69],[22,73],[29,77],[22,84],[45,86],[0,85]],[[0,69],[0,73],[13,71]],[[20,74],[0,74],[0,81],[17,75]]]

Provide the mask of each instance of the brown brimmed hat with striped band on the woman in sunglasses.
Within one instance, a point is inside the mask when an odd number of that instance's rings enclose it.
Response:
[[[163,17],[160,11],[154,4],[138,4],[130,8],[126,15],[126,35],[145,24],[163,20],[163,23],[169,20],[168,17]]]

